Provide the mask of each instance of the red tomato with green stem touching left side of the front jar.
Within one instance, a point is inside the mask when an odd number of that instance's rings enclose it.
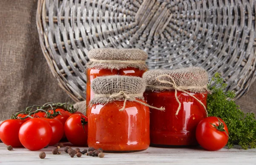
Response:
[[[64,126],[67,139],[73,145],[87,144],[87,117],[80,114],[70,116]]]

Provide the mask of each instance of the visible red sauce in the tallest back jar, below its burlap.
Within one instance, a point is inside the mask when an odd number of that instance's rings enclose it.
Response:
[[[131,76],[142,77],[145,71],[146,70],[141,70],[139,68],[132,68],[132,67],[119,69],[119,70],[88,68],[86,71],[86,75],[87,75],[86,107],[88,107],[90,100],[94,96],[93,90],[90,88],[90,84],[94,78],[98,76],[106,76],[106,75],[131,75]]]

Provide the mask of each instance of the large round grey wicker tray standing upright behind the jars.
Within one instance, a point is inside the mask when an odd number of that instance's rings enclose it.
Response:
[[[93,48],[140,48],[150,69],[201,66],[246,93],[255,79],[255,0],[38,0],[37,26],[52,74],[86,99]]]

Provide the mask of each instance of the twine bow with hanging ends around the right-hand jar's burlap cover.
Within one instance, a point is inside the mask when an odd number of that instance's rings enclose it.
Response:
[[[166,81],[166,80],[160,80],[161,77],[168,77],[168,78],[171,79],[172,82]],[[169,75],[158,75],[157,76],[157,81],[160,82],[160,83],[163,83],[163,84],[170,84],[171,86],[170,87],[153,86],[153,85],[147,85],[147,86],[148,87],[152,87],[152,88],[161,88],[161,89],[166,89],[166,90],[175,90],[175,98],[176,98],[176,101],[179,104],[179,107],[177,108],[177,111],[175,113],[176,116],[179,114],[180,107],[181,107],[181,103],[180,103],[180,101],[179,101],[179,99],[177,97],[177,91],[181,91],[181,92],[186,93],[187,95],[191,96],[192,98],[195,98],[195,100],[198,101],[198,103],[200,103],[204,107],[206,115],[208,116],[207,109],[204,106],[204,104],[202,103],[202,101],[200,101],[198,98],[193,96],[191,93],[185,91],[185,90],[189,90],[189,89],[206,89],[207,90],[207,86],[203,86],[203,87],[180,87],[180,86],[176,85],[175,80],[171,76],[169,76]]]

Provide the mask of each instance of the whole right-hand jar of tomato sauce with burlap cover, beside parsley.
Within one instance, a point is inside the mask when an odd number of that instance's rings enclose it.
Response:
[[[207,117],[207,72],[200,67],[145,72],[150,108],[150,140],[156,147],[197,145],[195,130]],[[176,94],[175,94],[176,90]]]

